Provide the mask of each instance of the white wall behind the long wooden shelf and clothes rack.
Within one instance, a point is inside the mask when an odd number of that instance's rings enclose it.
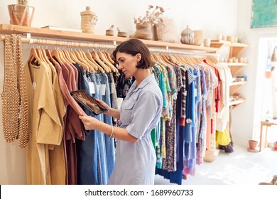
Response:
[[[240,4],[245,4],[246,9],[241,10]],[[0,1],[0,23],[9,23],[9,13],[7,11],[8,4],[14,4],[9,0]],[[148,8],[148,4],[154,6],[163,6],[165,16],[173,18],[176,25],[176,30],[180,36],[181,31],[189,25],[193,30],[202,29],[204,38],[215,38],[218,33],[226,35],[235,35],[237,33],[238,23],[244,23],[242,26],[249,26],[249,21],[241,22],[239,11],[244,12],[244,17],[249,18],[251,9],[248,1],[241,3],[237,0],[29,0],[29,5],[36,8],[36,13],[33,18],[33,27],[42,26],[60,26],[64,28],[80,29],[80,12],[85,11],[86,6],[91,6],[99,20],[95,26],[95,34],[104,35],[105,30],[112,24],[119,27],[121,31],[126,31],[133,34],[135,31],[133,18],[141,16]],[[245,8],[245,7],[244,7]],[[239,26],[240,27],[240,26]],[[238,35],[237,35],[238,36]],[[180,38],[178,39],[180,40]],[[3,43],[0,43],[0,87],[3,87],[4,60],[3,60]],[[28,52],[31,45],[24,44],[23,61],[26,62]],[[251,48],[252,49],[252,46]],[[250,50],[251,52],[253,50]],[[249,54],[251,55],[251,54]],[[254,65],[253,59],[251,65]],[[249,66],[253,68],[254,66]],[[254,74],[253,74],[254,76]],[[252,79],[252,78],[250,78]],[[253,82],[252,82],[253,83]],[[247,85],[251,90],[254,90],[254,85]],[[247,92],[247,90],[246,90]],[[246,98],[248,98],[246,96]],[[248,112],[251,109],[251,95],[246,104],[241,105],[237,112]],[[0,116],[1,120],[1,116]],[[237,124],[237,119],[234,119],[234,124]],[[251,119],[249,119],[250,121]],[[250,124],[251,121],[250,121]],[[1,125],[1,122],[0,122]],[[1,184],[24,184],[26,183],[24,150],[18,149],[17,143],[6,144],[3,133],[0,128],[0,183]],[[251,129],[246,129],[250,132]],[[239,129],[241,132],[241,129]],[[245,131],[242,131],[244,134]],[[243,134],[239,133],[243,137]],[[248,138],[246,138],[248,139]]]

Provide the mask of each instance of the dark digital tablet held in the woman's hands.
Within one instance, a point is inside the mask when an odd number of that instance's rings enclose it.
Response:
[[[102,107],[102,105],[99,104],[94,97],[89,95],[85,90],[74,90],[71,91],[70,94],[77,102],[80,102],[80,104],[86,107],[89,112],[92,112],[93,114],[97,115],[107,112],[107,109]]]

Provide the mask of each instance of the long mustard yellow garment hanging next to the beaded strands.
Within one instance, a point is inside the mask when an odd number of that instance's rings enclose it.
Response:
[[[57,148],[58,153],[63,153],[57,147],[63,139],[63,122],[55,102],[60,99],[55,99],[53,94],[52,70],[46,63],[40,63],[40,66],[26,64],[24,73],[28,98],[28,131],[31,137],[26,147],[27,183],[48,184],[51,182],[49,171],[52,167],[48,150]],[[53,148],[52,145],[56,146]],[[63,162],[64,158],[60,161]],[[57,178],[59,175],[64,178],[64,173],[61,171]]]

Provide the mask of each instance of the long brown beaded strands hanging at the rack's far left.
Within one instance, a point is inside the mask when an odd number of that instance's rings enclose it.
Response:
[[[4,138],[7,142],[18,139],[18,146],[25,148],[29,140],[28,104],[20,36],[5,36],[4,88],[1,99]]]

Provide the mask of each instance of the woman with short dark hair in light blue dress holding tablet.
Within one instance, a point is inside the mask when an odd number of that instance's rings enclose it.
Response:
[[[155,77],[148,69],[153,65],[151,54],[141,41],[125,41],[114,50],[119,70],[126,77],[134,76],[120,111],[97,100],[108,114],[119,119],[120,127],[111,127],[94,117],[80,116],[85,129],[97,129],[117,139],[114,171],[108,184],[153,184],[156,153],[151,130],[161,117],[162,94]]]

